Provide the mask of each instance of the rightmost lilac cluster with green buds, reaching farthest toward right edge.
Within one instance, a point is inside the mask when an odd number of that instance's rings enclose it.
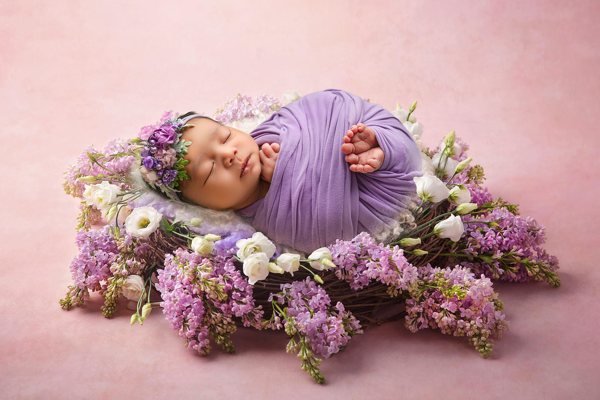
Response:
[[[476,221],[495,222],[499,226]],[[560,284],[556,272],[558,259],[540,246],[545,243],[545,227],[532,217],[515,216],[506,208],[494,208],[482,216],[465,216],[463,222],[466,240],[459,243],[454,257],[462,260],[461,265],[491,278]]]

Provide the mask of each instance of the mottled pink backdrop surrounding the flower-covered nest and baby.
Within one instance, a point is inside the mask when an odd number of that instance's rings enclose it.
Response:
[[[2,397],[599,398],[600,8],[470,3],[0,2]],[[418,99],[426,144],[455,129],[491,193],[547,226],[563,285],[494,284],[511,331],[492,356],[389,323],[325,360],[319,386],[278,332],[199,357],[160,311],[130,326],[96,295],[61,310],[77,214],[62,171],[83,147],[171,108],[330,87]]]

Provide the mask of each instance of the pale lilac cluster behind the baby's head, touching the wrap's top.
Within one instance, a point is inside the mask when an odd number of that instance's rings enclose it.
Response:
[[[258,113],[277,110],[279,107],[279,100],[273,96],[257,96],[256,103],[253,104],[251,96],[238,93],[234,98],[226,100],[223,107],[215,111],[212,117],[223,125],[227,125],[232,121],[239,121],[248,117],[253,118]]]

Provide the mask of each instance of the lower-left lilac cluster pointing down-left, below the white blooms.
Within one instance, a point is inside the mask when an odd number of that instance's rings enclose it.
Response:
[[[101,290],[101,281],[106,281],[112,272],[110,266],[115,262],[119,250],[114,236],[109,227],[96,231],[79,231],[75,237],[75,244],[79,247],[79,253],[73,257],[69,268],[73,285],[69,286],[69,292],[65,299],[61,300],[62,308],[67,310],[71,305],[82,305],[89,298],[89,290],[92,292]]]

